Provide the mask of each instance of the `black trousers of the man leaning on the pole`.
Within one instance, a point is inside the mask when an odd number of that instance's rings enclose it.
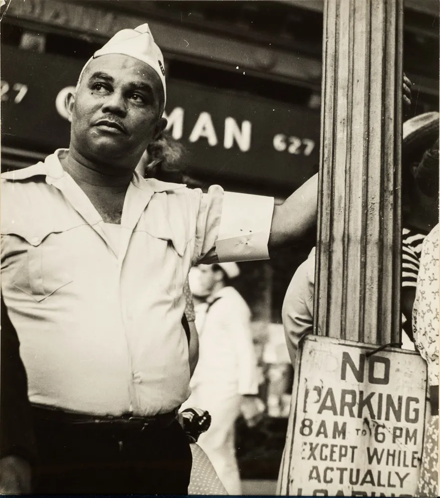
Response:
[[[36,419],[35,432],[36,494],[188,494],[192,455],[177,421],[133,431]]]

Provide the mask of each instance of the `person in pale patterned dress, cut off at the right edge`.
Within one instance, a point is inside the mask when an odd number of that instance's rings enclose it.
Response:
[[[416,346],[428,366],[431,418],[426,424],[422,466],[416,496],[439,496],[439,225],[423,242],[413,308]]]

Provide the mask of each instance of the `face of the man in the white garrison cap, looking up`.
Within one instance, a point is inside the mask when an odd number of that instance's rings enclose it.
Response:
[[[162,83],[150,66],[128,55],[102,55],[68,97],[71,147],[90,161],[134,168],[166,126],[162,103]]]

